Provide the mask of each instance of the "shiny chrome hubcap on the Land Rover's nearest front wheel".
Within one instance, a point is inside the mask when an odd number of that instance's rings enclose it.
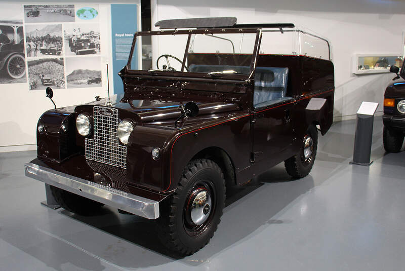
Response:
[[[194,190],[192,194],[196,196],[191,204],[191,220],[196,225],[202,225],[211,213],[210,193],[207,190],[199,188]]]

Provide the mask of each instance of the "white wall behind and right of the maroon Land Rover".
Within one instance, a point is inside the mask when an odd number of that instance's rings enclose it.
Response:
[[[326,36],[335,65],[334,120],[354,119],[362,101],[382,111],[392,73],[356,76],[352,55],[403,52],[405,1],[401,0],[152,0],[152,22],[165,19],[233,16],[238,23],[294,23]],[[157,28],[154,28],[157,29]],[[153,55],[163,44],[152,44]]]

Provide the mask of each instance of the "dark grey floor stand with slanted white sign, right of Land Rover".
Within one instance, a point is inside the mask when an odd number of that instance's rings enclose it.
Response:
[[[378,103],[362,102],[357,111],[356,133],[354,135],[353,161],[350,164],[370,166],[373,139],[374,113]]]

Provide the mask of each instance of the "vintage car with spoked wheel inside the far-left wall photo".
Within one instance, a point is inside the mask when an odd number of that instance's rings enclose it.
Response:
[[[0,21],[3,32],[13,35],[10,42],[0,45],[0,70],[5,69],[13,79],[25,75],[24,34],[22,22]]]

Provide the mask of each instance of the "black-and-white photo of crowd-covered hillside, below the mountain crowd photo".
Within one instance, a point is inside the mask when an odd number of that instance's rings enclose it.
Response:
[[[63,58],[39,58],[28,61],[29,89],[65,88]]]

